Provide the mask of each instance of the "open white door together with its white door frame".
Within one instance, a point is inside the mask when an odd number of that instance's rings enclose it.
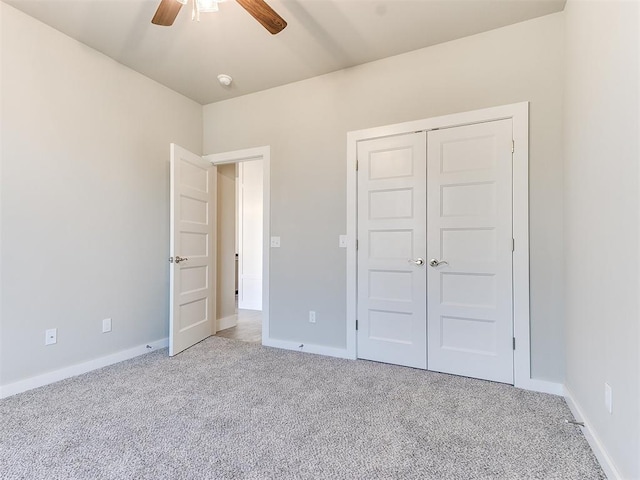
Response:
[[[262,162],[262,343],[269,340],[270,148],[201,157],[170,146],[169,356],[215,335],[217,165]],[[233,284],[232,284],[233,285]]]

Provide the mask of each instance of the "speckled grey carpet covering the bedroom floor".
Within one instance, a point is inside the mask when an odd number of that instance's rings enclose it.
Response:
[[[599,479],[560,397],[211,337],[0,401],[9,479]]]

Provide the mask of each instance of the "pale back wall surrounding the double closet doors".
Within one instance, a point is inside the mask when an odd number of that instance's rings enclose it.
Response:
[[[530,101],[532,374],[562,381],[562,87],[560,13],[205,106],[205,153],[272,147],[271,336],[345,347],[348,131]]]

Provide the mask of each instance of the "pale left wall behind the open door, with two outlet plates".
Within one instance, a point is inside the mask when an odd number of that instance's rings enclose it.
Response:
[[[202,108],[0,12],[6,385],[167,336],[169,143],[200,152]]]

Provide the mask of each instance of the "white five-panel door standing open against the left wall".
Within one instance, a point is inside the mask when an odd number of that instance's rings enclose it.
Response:
[[[216,167],[171,144],[169,355],[216,333]]]

